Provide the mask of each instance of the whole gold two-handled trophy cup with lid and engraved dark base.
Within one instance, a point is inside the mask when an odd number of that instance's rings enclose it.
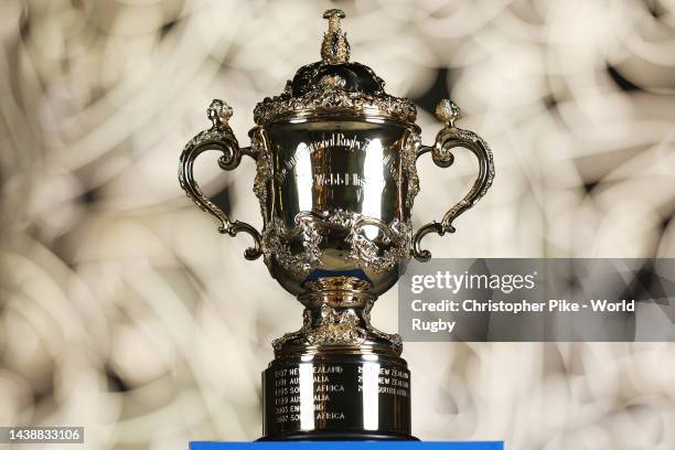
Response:
[[[239,147],[227,124],[232,108],[214,100],[212,126],[185,146],[179,180],[217,218],[221,233],[253,237],[246,259],[262,256],[271,276],[306,308],[300,330],[274,342],[275,360],[262,373],[262,439],[414,439],[400,336],[375,329],[371,309],[411,257],[431,257],[421,238],[454,232],[452,221],[485,194],[494,176],[492,153],[479,136],[454,126],[459,108],[449,100],[436,110],[444,122],[436,142],[422,146],[415,105],[386,94],[369,67],[350,62],[342,11],[323,17],[321,61],[301,67],[281,95],[256,106],[250,147]],[[416,160],[431,153],[448,168],[456,147],[475,154],[478,179],[440,222],[414,232]],[[221,151],[218,164],[228,171],[243,156],[256,161],[261,233],[233,221],[202,193],[192,171],[206,150]]]

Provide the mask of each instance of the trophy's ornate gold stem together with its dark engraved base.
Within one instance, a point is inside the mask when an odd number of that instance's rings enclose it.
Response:
[[[262,439],[415,439],[400,338],[371,325],[369,283],[334,277],[306,288],[302,328],[275,341],[262,373]]]

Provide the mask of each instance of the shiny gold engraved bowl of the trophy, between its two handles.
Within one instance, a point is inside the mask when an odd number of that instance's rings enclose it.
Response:
[[[375,294],[389,289],[410,254],[415,127],[332,120],[254,132],[267,143],[256,183],[272,276],[293,294],[308,280],[349,275]]]

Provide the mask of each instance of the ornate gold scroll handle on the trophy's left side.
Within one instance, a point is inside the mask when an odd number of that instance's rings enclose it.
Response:
[[[194,160],[206,150],[218,150],[223,153],[218,158],[218,165],[223,170],[234,170],[239,165],[242,156],[246,154],[253,159],[257,159],[256,153],[250,148],[239,148],[239,143],[235,138],[227,120],[232,117],[232,108],[223,100],[213,100],[206,110],[212,127],[200,132],[192,138],[185,146],[179,164],[179,182],[181,188],[188,194],[200,210],[214,216],[221,224],[218,232],[236,236],[237,233],[248,233],[254,238],[253,247],[249,247],[244,253],[246,259],[256,259],[261,255],[260,234],[251,225],[234,221],[231,222],[227,214],[215,205],[200,189],[200,185],[193,178],[192,167]]]

